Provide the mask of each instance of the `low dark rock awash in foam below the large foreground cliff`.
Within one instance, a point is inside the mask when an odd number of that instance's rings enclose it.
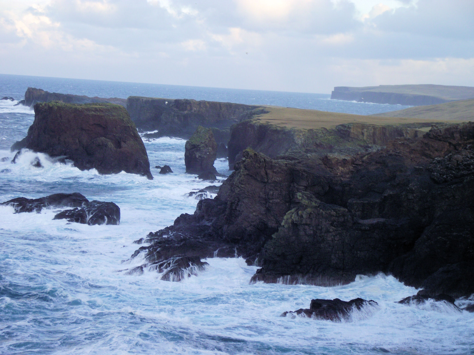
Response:
[[[302,315],[308,318],[331,320],[333,322],[340,322],[342,320],[350,319],[351,312],[360,311],[365,307],[374,307],[378,305],[375,301],[366,301],[362,298],[356,298],[351,301],[341,301],[338,298],[334,300],[311,300],[310,309],[299,309],[294,312],[283,312],[282,317],[287,315],[294,318],[296,315]]]

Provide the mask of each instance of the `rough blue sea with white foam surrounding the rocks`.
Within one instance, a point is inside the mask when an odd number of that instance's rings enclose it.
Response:
[[[28,86],[72,94],[197,98],[377,113],[400,106],[329,100],[317,94],[0,76],[0,201],[80,192],[113,201],[120,225],[88,226],[52,220],[55,209],[13,213],[0,206],[0,354],[472,354],[474,314],[444,302],[396,303],[416,289],[392,276],[358,276],[347,285],[249,284],[257,269],[242,258],[211,258],[198,276],[161,281],[156,272],[125,275],[143,260],[133,241],[193,213],[188,196],[209,185],[185,173],[177,138],[145,140],[154,180],[99,175],[26,152],[11,164],[11,144],[25,137],[34,113],[13,105]],[[341,108],[342,107],[342,108]],[[31,166],[38,157],[43,168]],[[171,166],[160,175],[155,165]],[[228,162],[216,160],[229,175]],[[211,195],[210,197],[213,197]],[[280,317],[311,299],[357,297],[378,307],[342,323]],[[458,300],[458,304],[474,300]]]

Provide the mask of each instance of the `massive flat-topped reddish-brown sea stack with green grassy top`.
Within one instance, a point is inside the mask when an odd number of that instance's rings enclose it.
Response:
[[[81,170],[153,178],[145,145],[127,110],[118,105],[38,103],[27,136],[11,150],[23,148],[63,156]]]

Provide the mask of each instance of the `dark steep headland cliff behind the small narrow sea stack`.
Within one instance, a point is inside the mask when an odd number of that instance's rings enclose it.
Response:
[[[235,123],[258,115],[262,107],[228,102],[196,101],[189,99],[143,98],[131,96],[127,110],[138,129],[155,131],[156,136],[171,135],[189,139],[198,126],[213,127],[216,142],[227,144],[228,128]],[[225,141],[221,141],[221,139]]]

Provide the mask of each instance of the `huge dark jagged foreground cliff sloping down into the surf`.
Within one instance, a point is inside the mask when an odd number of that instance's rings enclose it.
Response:
[[[219,249],[261,265],[254,281],[332,285],[385,272],[427,292],[470,295],[473,143],[468,123],[352,156],[273,160],[246,150],[215,199],[151,233],[135,255]]]

